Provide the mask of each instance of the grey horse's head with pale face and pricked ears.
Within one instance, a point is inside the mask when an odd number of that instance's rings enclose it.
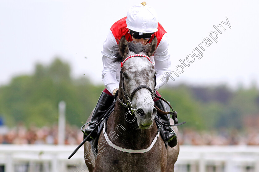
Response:
[[[132,108],[135,109],[134,114],[138,126],[141,129],[152,125],[157,113],[153,101],[156,71],[149,58],[145,57],[154,54],[156,46],[156,37],[150,44],[142,45],[137,42],[127,42],[123,36],[119,42],[115,59],[117,62],[124,62],[121,68],[120,94],[124,102],[131,102]],[[144,57],[128,58],[134,54],[141,54]]]

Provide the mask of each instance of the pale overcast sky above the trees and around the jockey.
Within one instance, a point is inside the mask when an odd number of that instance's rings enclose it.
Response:
[[[54,57],[69,62],[74,77],[89,76],[102,84],[102,45],[109,28],[141,3],[130,1],[23,0],[0,3],[0,85],[20,74],[31,74],[36,63]],[[182,65],[195,47],[216,31],[222,34],[204,47],[203,57],[184,67],[170,84],[226,84],[259,88],[259,3],[257,1],[147,0],[170,38],[171,70]],[[231,26],[221,23],[228,22]],[[186,61],[185,61],[186,62]],[[182,65],[183,66],[183,65]],[[180,70],[180,69],[179,69]],[[84,75],[85,74],[85,75]]]

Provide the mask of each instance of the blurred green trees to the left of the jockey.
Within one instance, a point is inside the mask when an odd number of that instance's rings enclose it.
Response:
[[[104,86],[94,86],[86,77],[73,80],[70,72],[68,63],[55,58],[50,66],[37,64],[33,75],[14,77],[9,85],[0,87],[0,113],[4,114],[7,124],[57,123],[58,103],[63,100],[67,104],[67,122],[81,126]]]

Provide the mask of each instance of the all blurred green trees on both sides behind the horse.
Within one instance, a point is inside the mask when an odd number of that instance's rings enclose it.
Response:
[[[0,87],[0,114],[7,125],[23,121],[27,126],[58,122],[58,104],[66,102],[66,121],[81,126],[94,109],[103,85],[93,85],[86,75],[74,79],[67,62],[55,58],[50,65],[36,64],[32,75],[12,78]],[[183,127],[213,130],[242,129],[243,119],[259,114],[259,91],[256,87],[229,90],[226,86],[163,86],[163,98],[178,112]]]

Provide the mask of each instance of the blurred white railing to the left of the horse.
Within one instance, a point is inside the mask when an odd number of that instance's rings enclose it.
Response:
[[[4,172],[87,172],[83,146],[68,159],[76,147],[0,145],[0,166],[5,166]]]

